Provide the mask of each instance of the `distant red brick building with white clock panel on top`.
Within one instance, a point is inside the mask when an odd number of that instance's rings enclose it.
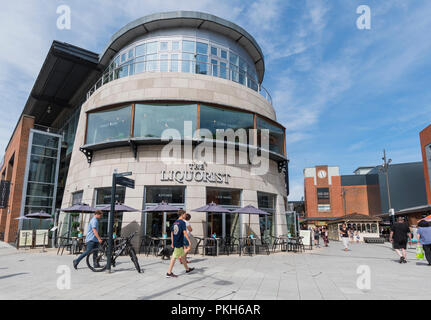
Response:
[[[338,167],[316,166],[304,169],[304,188],[306,220],[315,224],[353,213],[381,212],[377,175],[340,176]]]

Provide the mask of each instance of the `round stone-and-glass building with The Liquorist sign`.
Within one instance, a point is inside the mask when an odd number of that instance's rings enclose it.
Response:
[[[62,208],[106,206],[112,174],[132,172],[135,188],[118,186],[116,200],[139,210],[162,201],[183,208],[192,215],[195,236],[288,232],[285,128],[261,85],[264,57],[250,34],[209,14],[169,12],[126,25],[97,62],[82,50],[69,46],[58,54],[76,64],[76,91],[49,97],[54,105],[76,105],[55,108],[57,118],[49,123],[57,125],[65,149],[58,159],[57,208],[60,201]],[[67,86],[72,80],[63,81]],[[229,129],[233,136],[219,135]],[[262,163],[265,170],[256,170]],[[271,215],[252,216],[249,230],[248,216],[192,211],[210,202],[252,204]],[[82,219],[84,230],[89,218]],[[173,213],[118,214],[114,231],[138,231],[136,241],[169,236],[175,219]],[[64,232],[70,222],[63,214],[58,221]],[[107,218],[101,226],[103,234]]]

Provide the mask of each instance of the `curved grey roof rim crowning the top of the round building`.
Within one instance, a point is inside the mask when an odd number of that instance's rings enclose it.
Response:
[[[143,34],[158,29],[175,27],[206,29],[223,34],[236,41],[253,59],[259,83],[263,81],[265,62],[262,50],[256,40],[243,28],[230,21],[208,13],[196,11],[155,13],[127,24],[112,36],[108,46],[101,55],[100,64],[106,67],[115,54]]]

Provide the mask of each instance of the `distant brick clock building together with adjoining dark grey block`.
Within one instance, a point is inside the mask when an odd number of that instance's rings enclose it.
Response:
[[[389,166],[391,207],[396,212],[427,204],[423,172],[421,162]],[[427,181],[429,186],[429,178]],[[305,220],[309,223],[327,224],[349,214],[388,216],[388,187],[381,166],[359,167],[353,175],[340,175],[337,166],[306,168],[304,188]]]

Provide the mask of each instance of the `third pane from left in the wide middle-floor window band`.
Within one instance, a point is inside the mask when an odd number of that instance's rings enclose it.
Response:
[[[216,137],[217,129],[248,129],[254,128],[254,115],[248,112],[241,112],[236,110],[222,109],[217,107],[210,107],[200,105],[200,127],[208,129]],[[249,140],[249,143],[251,141]]]

